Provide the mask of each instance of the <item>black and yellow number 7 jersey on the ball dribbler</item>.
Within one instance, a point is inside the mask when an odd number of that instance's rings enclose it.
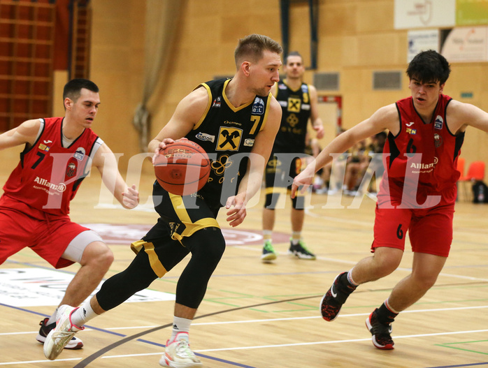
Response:
[[[235,108],[225,94],[231,79],[199,84],[208,92],[208,105],[199,122],[186,138],[201,145],[210,158],[210,177],[198,194],[206,203],[222,207],[237,193],[247,167],[247,156],[257,133],[268,119],[271,94]]]

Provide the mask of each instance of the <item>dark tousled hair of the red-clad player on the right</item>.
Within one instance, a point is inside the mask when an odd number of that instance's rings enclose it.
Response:
[[[408,78],[415,78],[422,83],[439,82],[444,84],[451,68],[445,57],[434,50],[419,52],[410,61],[407,68]]]

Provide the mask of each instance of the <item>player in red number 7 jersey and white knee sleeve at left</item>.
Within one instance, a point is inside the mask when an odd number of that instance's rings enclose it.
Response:
[[[20,163],[0,198],[0,264],[29,246],[55,268],[80,263],[61,304],[73,307],[99,285],[113,254],[101,237],[69,219],[69,203],[93,165],[125,208],[138,204],[136,186],[128,188],[112,151],[91,129],[99,109],[99,88],[84,79],[64,86],[65,117],[27,120],[0,135],[0,149],[24,145]],[[56,325],[57,309],[41,321],[36,339]],[[73,337],[66,348],[78,349]]]

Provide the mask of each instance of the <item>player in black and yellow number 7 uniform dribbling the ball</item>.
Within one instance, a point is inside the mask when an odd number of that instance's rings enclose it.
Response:
[[[261,187],[271,154],[269,142],[275,139],[282,114],[270,93],[279,80],[281,52],[282,47],[271,38],[246,36],[234,53],[234,78],[199,84],[180,101],[148,150],[156,157],[182,137],[198,142],[211,160],[207,184],[197,193],[182,197],[155,182],[153,198],[159,220],[142,240],[132,244],[137,256],[131,265],[105,281],[91,301],[72,309],[60,321],[57,332],[62,337],[52,339],[51,357],[61,352],[63,339],[71,339],[91,318],[147,288],[192,253],[178,280],[173,333],[159,364],[201,367],[189,348],[188,332],[225,249],[217,212],[225,207],[229,224],[238,226],[245,219],[247,201]]]

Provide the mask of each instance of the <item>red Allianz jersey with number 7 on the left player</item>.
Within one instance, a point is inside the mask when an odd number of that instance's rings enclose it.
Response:
[[[62,144],[62,117],[40,119],[41,134],[25,147],[3,186],[3,195],[48,214],[69,214],[69,202],[91,167],[103,141],[85,129],[69,147]]]

